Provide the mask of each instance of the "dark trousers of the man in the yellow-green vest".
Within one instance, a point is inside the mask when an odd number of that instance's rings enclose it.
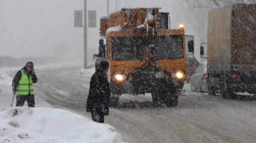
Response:
[[[35,107],[35,97],[34,97],[33,94],[32,95],[31,94],[29,94],[29,95],[17,95],[16,100],[17,100],[16,107],[17,106],[23,106],[25,101],[27,101],[28,107]]]

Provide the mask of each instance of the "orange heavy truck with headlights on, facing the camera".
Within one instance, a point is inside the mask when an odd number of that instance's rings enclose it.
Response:
[[[98,62],[110,64],[111,105],[119,96],[151,93],[154,103],[178,104],[186,79],[184,27],[168,29],[159,8],[122,9],[101,17]],[[188,42],[193,52],[193,41]]]

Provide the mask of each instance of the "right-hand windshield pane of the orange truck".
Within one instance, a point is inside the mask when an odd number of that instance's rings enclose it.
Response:
[[[155,39],[157,59],[183,58],[182,35],[158,36]]]

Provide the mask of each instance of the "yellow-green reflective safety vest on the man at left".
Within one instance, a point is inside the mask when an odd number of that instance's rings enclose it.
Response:
[[[28,77],[24,70],[21,70],[21,78],[18,82],[17,95],[28,95],[29,92],[31,95],[34,94],[32,77],[31,75]]]

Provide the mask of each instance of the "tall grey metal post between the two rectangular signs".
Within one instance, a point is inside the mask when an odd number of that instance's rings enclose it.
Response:
[[[84,68],[87,68],[87,0],[84,2]]]

